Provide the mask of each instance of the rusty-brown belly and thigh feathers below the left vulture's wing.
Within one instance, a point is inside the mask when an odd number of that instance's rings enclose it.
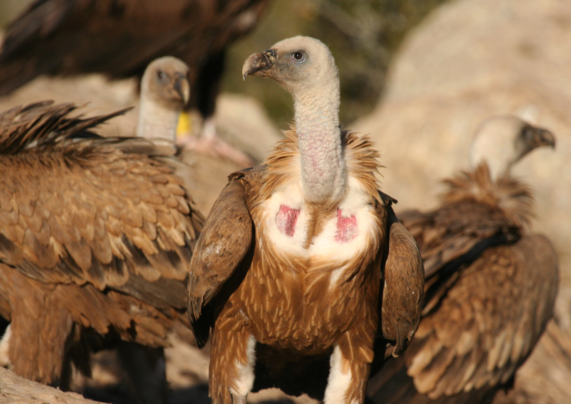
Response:
[[[164,346],[174,321],[184,320],[123,293],[100,293],[89,283],[38,282],[3,264],[0,294],[8,306],[2,315],[11,319],[11,369],[42,383],[60,381],[67,355],[89,376],[87,345],[100,341],[101,335],[119,334],[126,341]],[[83,338],[86,334],[89,338]]]

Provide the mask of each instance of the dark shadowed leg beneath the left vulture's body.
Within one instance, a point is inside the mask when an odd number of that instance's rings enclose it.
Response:
[[[167,404],[163,349],[122,342],[117,347],[117,353],[139,401],[143,404]]]

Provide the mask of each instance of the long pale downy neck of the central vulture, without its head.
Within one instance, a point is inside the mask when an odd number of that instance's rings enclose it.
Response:
[[[347,182],[339,126],[339,81],[326,86],[329,88],[293,98],[303,193],[313,203],[339,201]]]

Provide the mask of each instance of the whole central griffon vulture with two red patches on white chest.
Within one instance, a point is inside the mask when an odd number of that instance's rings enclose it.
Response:
[[[362,403],[377,328],[399,353],[415,333],[419,252],[378,190],[372,143],[340,129],[328,47],[285,39],[243,74],[285,87],[296,125],[263,165],[230,176],[191,260],[188,314],[199,346],[212,328],[212,402],[275,386]]]

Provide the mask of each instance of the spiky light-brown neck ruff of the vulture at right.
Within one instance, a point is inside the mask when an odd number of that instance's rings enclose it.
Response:
[[[443,203],[476,201],[501,210],[518,227],[529,226],[533,218],[533,196],[528,185],[504,171],[496,179],[487,163],[482,162],[472,171],[462,171],[443,181],[448,190]]]

